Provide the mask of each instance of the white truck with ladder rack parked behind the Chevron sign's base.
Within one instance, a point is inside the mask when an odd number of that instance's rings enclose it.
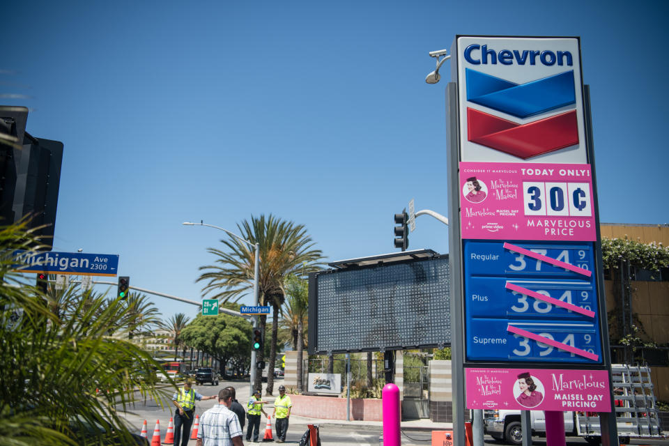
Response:
[[[655,406],[649,367],[614,364],[613,388],[616,425],[621,444],[631,437],[663,438]],[[546,420],[541,410],[530,411],[532,436],[546,435]],[[588,443],[601,443],[599,415],[591,412],[565,412],[567,436],[580,436]],[[495,440],[520,445],[523,441],[520,410],[484,410],[484,431]]]

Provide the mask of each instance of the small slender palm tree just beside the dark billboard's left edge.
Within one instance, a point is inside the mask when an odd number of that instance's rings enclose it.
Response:
[[[293,348],[298,352],[298,390],[302,392],[302,354],[304,350],[304,328],[307,322],[307,306],[309,305],[309,283],[295,275],[289,275],[285,282],[287,325],[293,333]]]

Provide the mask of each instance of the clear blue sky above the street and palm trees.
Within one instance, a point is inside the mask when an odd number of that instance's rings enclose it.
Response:
[[[424,78],[428,52],[456,34],[580,36],[601,221],[669,222],[668,9],[13,1],[2,6],[0,103],[29,107],[28,132],[65,144],[55,251],[119,254],[131,285],[199,300],[198,268],[224,233],[184,221],[236,231],[273,213],[305,224],[334,261],[394,251],[392,215],[411,198],[447,215],[449,62],[439,84]],[[431,217],[409,240],[448,251]],[[197,312],[152,300],[165,318]]]

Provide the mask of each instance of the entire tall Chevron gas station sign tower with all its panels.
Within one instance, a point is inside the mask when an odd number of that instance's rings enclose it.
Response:
[[[451,54],[456,444],[463,406],[544,410],[548,446],[564,410],[598,412],[616,444],[580,40],[456,36]]]

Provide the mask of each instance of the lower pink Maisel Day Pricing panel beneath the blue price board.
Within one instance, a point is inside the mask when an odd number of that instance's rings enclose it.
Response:
[[[610,412],[606,370],[466,369],[467,408]]]

